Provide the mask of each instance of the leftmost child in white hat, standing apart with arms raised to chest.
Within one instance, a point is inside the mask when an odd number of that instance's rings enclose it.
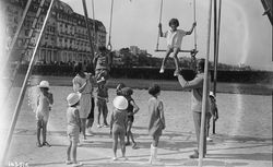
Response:
[[[46,140],[47,122],[49,119],[50,105],[54,104],[54,95],[49,92],[48,81],[41,81],[38,85],[40,93],[37,98],[36,120],[37,120],[37,146],[50,146]],[[43,143],[40,144],[40,130],[43,130]]]

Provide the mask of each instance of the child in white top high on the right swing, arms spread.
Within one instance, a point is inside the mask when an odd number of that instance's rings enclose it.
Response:
[[[175,64],[176,64],[176,70],[175,70],[174,76],[177,76],[178,72],[179,72],[179,60],[177,58],[177,55],[178,55],[178,52],[180,50],[182,38],[186,35],[191,35],[191,33],[193,32],[193,28],[197,26],[197,22],[194,22],[192,24],[192,27],[191,27],[191,29],[189,32],[177,28],[179,26],[179,21],[177,19],[171,19],[169,21],[169,26],[170,26],[170,29],[163,33],[162,32],[162,24],[159,23],[159,25],[158,25],[158,27],[159,27],[159,36],[167,38],[167,51],[166,51],[166,55],[165,55],[165,57],[163,59],[159,73],[164,73],[165,63],[166,63],[169,55],[171,52],[174,52],[174,59],[175,59]]]

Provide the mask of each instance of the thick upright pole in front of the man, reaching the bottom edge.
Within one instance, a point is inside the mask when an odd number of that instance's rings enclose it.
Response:
[[[211,20],[212,20],[212,0],[209,3],[209,19],[207,19],[207,38],[206,38],[206,58],[205,58],[205,69],[204,69],[204,83],[203,83],[203,97],[202,97],[202,116],[201,116],[201,130],[199,140],[199,167],[202,167],[203,155],[204,155],[204,136],[205,136],[205,112],[207,105],[207,91],[209,91],[209,58],[210,58],[210,39],[211,39]]]

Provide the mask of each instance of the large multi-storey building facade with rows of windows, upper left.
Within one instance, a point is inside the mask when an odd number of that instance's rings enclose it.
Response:
[[[12,57],[19,59],[24,56],[25,61],[29,61],[32,49],[24,52],[27,45],[33,19],[41,0],[33,0],[28,16],[25,17],[22,31],[20,33]],[[4,0],[7,34],[12,38],[22,19],[23,10],[27,0]],[[46,12],[50,0],[46,0],[38,23],[37,29],[40,29],[45,22]],[[29,16],[32,15],[32,16]],[[92,41],[95,48],[106,46],[106,28],[97,20],[88,19],[88,25],[92,34]],[[56,0],[47,26],[43,33],[38,50],[36,52],[36,62],[38,63],[69,63],[69,62],[91,62],[91,47],[85,24],[84,15],[75,13],[67,3]],[[39,33],[34,32],[35,38],[31,41],[35,46]]]

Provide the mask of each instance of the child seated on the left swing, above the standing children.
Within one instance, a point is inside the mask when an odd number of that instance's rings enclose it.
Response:
[[[111,55],[105,46],[98,47],[98,52],[95,55],[93,64],[95,65],[95,76],[97,81],[100,79],[107,81],[109,79]]]

